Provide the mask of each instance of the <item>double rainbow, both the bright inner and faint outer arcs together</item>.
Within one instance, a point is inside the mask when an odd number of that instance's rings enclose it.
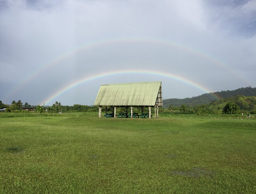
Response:
[[[53,66],[57,66],[60,64],[61,61],[64,61],[65,59],[67,59],[68,57],[71,57],[73,55],[75,55],[76,53],[79,52],[86,52],[88,50],[91,50],[93,48],[97,48],[97,47],[102,47],[102,46],[109,46],[112,44],[127,44],[127,43],[146,43],[146,44],[155,44],[155,45],[164,45],[164,46],[168,46],[168,47],[173,47],[175,49],[181,50],[182,52],[185,53],[190,53],[193,54],[195,56],[198,56],[202,59],[205,59],[209,62],[211,62],[211,64],[216,65],[217,68],[223,69],[224,71],[230,72],[231,74],[233,74],[235,77],[237,77],[239,80],[243,80],[246,81],[245,78],[241,77],[241,75],[238,75],[238,73],[236,71],[234,71],[233,69],[229,68],[227,65],[225,65],[223,62],[213,58],[212,56],[205,54],[204,52],[198,51],[195,48],[190,48],[188,46],[184,46],[175,42],[170,42],[170,41],[166,41],[166,40],[160,40],[160,39],[155,39],[155,38],[115,38],[115,39],[110,39],[110,40],[100,40],[97,42],[91,42],[88,43],[84,46],[78,47],[74,50],[70,50],[68,52],[66,52],[65,54],[61,54],[58,57],[50,60],[49,62],[41,65],[39,68],[37,68],[34,72],[32,72],[29,76],[25,77],[23,80],[20,80],[19,84],[16,85],[16,87],[14,87],[4,98],[5,100],[9,97],[11,97],[13,94],[17,93],[19,90],[21,90],[22,88],[24,88],[26,86],[27,83],[36,80],[36,77],[39,74],[42,74],[44,72],[46,72],[48,70],[48,68],[51,68]],[[65,87],[66,89],[60,89],[58,93],[63,93],[64,91],[68,90],[68,88],[73,88],[76,85],[79,85],[81,83],[90,81],[90,80],[94,80],[100,77],[105,77],[108,75],[117,75],[117,74],[125,74],[125,73],[140,73],[140,74],[153,74],[153,75],[161,75],[161,76],[165,76],[165,77],[169,77],[169,78],[173,78],[176,80],[180,80],[182,82],[188,83],[190,85],[193,85],[197,88],[200,88],[201,90],[205,91],[205,92],[209,92],[209,90],[207,90],[206,88],[192,82],[189,81],[185,78],[182,78],[180,76],[177,75],[172,75],[170,73],[163,73],[163,72],[158,72],[158,71],[153,71],[153,70],[148,70],[148,71],[142,71],[142,70],[120,70],[120,71],[112,71],[112,72],[107,72],[107,73],[100,73],[97,75],[91,75],[88,77],[84,77],[81,80],[76,81],[75,83],[72,83],[70,85],[68,85],[67,87]],[[248,82],[248,81],[247,81]],[[61,92],[62,91],[62,92]],[[60,95],[60,94],[59,94]],[[51,95],[51,97],[49,97],[48,99],[52,99],[53,96],[59,96],[57,95],[57,93]],[[49,100],[46,100],[46,102],[48,102]]]

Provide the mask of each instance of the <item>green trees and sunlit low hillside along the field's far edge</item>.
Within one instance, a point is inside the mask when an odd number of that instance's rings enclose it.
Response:
[[[31,106],[27,102],[24,106]],[[12,101],[11,105],[3,104],[0,101],[0,109],[6,108],[6,112],[22,112],[26,110],[22,110],[23,103],[21,100]],[[81,104],[74,104],[73,106],[61,105],[60,102],[56,101],[52,106],[40,106],[37,105],[34,108],[35,112],[50,112],[50,113],[58,113],[58,112],[97,112],[98,106],[88,106]],[[105,112],[105,106],[101,109]],[[124,107],[117,108],[117,112],[125,112],[126,109]],[[130,111],[130,109],[129,109]],[[144,112],[149,111],[147,107],[144,108]],[[151,109],[153,112],[154,109]],[[107,112],[112,112],[112,108],[107,106]],[[133,108],[133,112],[141,113],[140,108]],[[172,104],[169,105],[168,108],[159,107],[159,112],[165,113],[196,113],[206,114],[206,113],[214,113],[214,114],[237,114],[237,113],[251,113],[256,114],[256,97],[245,97],[243,95],[239,95],[236,97],[230,97],[221,100],[212,101],[209,104],[199,104],[195,106],[188,106],[186,104],[181,104],[180,107],[174,106]]]

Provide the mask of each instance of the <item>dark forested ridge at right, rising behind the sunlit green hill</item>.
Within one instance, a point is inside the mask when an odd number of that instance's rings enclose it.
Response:
[[[228,98],[228,97],[235,97],[237,95],[256,96],[256,88],[252,88],[251,86],[249,86],[246,88],[239,88],[237,90],[231,90],[231,91],[227,90],[227,91],[221,91],[221,92],[202,94],[200,96],[196,96],[196,97],[192,97],[192,98],[164,99],[163,107],[169,108],[170,105],[180,107],[182,104],[185,104],[187,106],[194,106],[194,105],[198,105],[198,104],[209,104],[212,101],[216,100],[216,97],[214,97],[214,96],[218,96],[219,99],[224,99],[224,98]]]

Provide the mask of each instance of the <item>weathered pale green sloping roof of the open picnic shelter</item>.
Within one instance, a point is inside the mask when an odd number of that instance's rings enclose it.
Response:
[[[94,105],[155,106],[156,102],[162,106],[161,82],[142,82],[101,85]]]

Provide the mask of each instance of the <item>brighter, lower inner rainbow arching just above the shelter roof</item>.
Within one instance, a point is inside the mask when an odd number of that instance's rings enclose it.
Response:
[[[68,90],[75,88],[76,86],[86,83],[86,82],[90,82],[92,80],[96,80],[102,77],[107,77],[107,76],[114,76],[114,75],[122,75],[122,74],[148,74],[148,75],[159,75],[159,76],[163,76],[163,77],[167,77],[167,78],[171,78],[183,83],[187,83],[193,87],[196,87],[206,93],[210,93],[214,98],[216,99],[220,99],[216,94],[213,94],[210,90],[208,90],[207,88],[205,88],[204,86],[201,86],[191,80],[188,80],[186,78],[177,76],[177,75],[173,75],[171,73],[164,73],[164,72],[160,72],[160,71],[153,71],[153,70],[119,70],[119,71],[113,71],[113,72],[105,72],[105,73],[100,73],[100,74],[96,74],[96,75],[91,75],[91,76],[86,76],[74,83],[69,84],[68,86],[61,88],[60,90],[58,90],[56,93],[52,94],[50,97],[48,97],[47,99],[44,99],[42,103],[40,104],[50,104],[51,102],[54,101],[54,99],[56,99],[57,97],[59,97],[60,95],[62,95],[63,93],[67,92]]]

